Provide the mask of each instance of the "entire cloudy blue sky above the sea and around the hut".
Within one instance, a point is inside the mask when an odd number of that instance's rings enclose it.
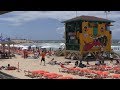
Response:
[[[77,11],[77,16],[89,15],[106,18],[104,11]],[[34,40],[61,40],[64,20],[76,16],[75,11],[13,11],[0,16],[0,33],[4,37]],[[112,38],[120,39],[120,12],[111,11],[108,19],[114,20]]]

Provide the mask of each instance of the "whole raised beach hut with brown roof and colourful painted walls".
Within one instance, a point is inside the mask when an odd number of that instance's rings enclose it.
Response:
[[[84,57],[88,53],[99,51],[111,52],[110,31],[112,20],[94,17],[78,16],[65,23],[65,57]]]

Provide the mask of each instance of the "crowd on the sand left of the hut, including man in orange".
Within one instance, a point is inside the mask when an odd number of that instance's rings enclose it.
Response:
[[[40,58],[40,60],[41,60],[40,65],[42,64],[42,62],[44,62],[44,66],[45,66],[46,56],[54,55],[54,51],[52,51],[51,49],[46,50],[45,48],[44,49],[39,49],[39,48],[24,49],[24,50],[22,50],[20,48],[17,48],[15,51],[16,51],[17,54],[21,55],[24,59],[27,59],[27,58],[30,58],[30,57],[32,59],[39,59]]]

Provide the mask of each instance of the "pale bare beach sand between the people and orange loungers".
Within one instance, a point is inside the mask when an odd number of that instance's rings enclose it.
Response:
[[[10,64],[11,66],[18,67],[18,62],[19,62],[19,67],[20,67],[20,72],[18,70],[1,70],[1,72],[7,73],[9,75],[12,75],[14,77],[18,77],[20,79],[32,79],[30,77],[25,76],[24,70],[46,70],[48,72],[54,72],[58,74],[62,74],[63,76],[71,76],[75,79],[87,79],[87,77],[84,76],[78,76],[78,75],[72,75],[72,74],[67,74],[63,72],[59,72],[60,66],[59,65],[49,65],[47,64],[52,58],[54,58],[58,62],[65,62],[65,61],[71,61],[72,63],[70,65],[67,65],[67,67],[74,67],[74,62],[76,60],[69,60],[65,59],[64,57],[56,57],[56,56],[46,56],[46,66],[40,65],[40,59],[24,59],[19,55],[16,55],[16,58],[12,59],[0,59],[0,66],[7,66]],[[86,64],[86,62],[83,62]],[[92,61],[90,64],[94,64],[95,62]]]

